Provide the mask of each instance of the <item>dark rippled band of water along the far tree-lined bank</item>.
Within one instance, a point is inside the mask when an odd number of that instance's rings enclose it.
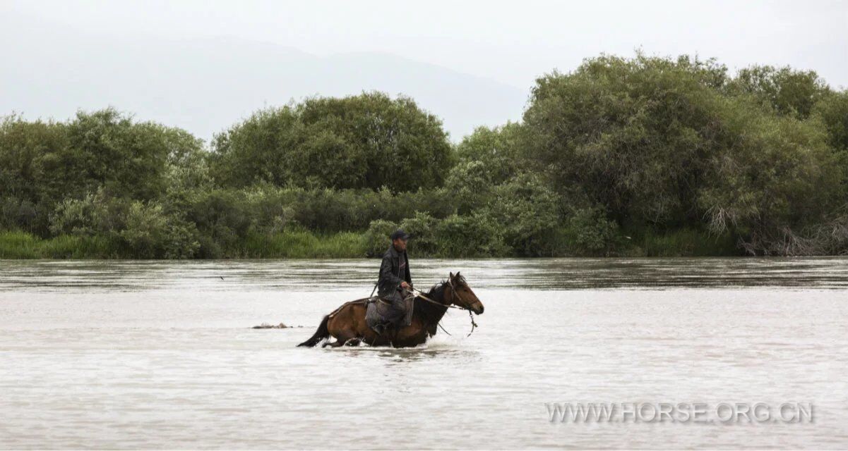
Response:
[[[663,287],[848,287],[848,258],[415,259],[413,278],[435,283],[461,271],[475,287],[656,289]],[[326,290],[377,278],[374,260],[0,261],[0,291],[27,289]]]

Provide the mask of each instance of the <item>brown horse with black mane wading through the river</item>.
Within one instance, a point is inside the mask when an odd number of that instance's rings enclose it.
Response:
[[[356,346],[361,342],[371,346],[409,348],[423,344],[427,338],[436,334],[438,322],[442,320],[444,312],[448,311],[449,305],[473,311],[477,315],[483,314],[483,303],[477,299],[477,295],[468,287],[466,278],[460,276],[459,272],[456,275],[451,272],[446,282],[433,285],[424,296],[427,299],[416,296],[412,307],[412,323],[409,326],[397,329],[390,327],[382,334],[377,334],[365,323],[368,300],[352,300],[324,316],[315,335],[298,346],[311,348],[332,335],[336,341],[325,342],[321,347],[328,344],[333,348],[344,344]]]

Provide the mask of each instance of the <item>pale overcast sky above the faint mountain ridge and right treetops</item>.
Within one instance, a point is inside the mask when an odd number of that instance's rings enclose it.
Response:
[[[390,52],[527,89],[600,52],[697,53],[815,69],[848,85],[848,2],[12,1],[107,35],[237,36],[304,52]],[[8,43],[6,44],[8,45]]]

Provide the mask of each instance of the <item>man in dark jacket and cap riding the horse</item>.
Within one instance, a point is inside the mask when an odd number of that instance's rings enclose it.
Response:
[[[410,259],[406,255],[406,242],[410,235],[401,229],[390,236],[392,245],[382,256],[380,277],[377,279],[377,312],[390,325],[398,326],[401,320],[409,326],[412,322],[412,278]],[[382,325],[385,327],[386,325]],[[382,333],[382,328],[377,330]]]

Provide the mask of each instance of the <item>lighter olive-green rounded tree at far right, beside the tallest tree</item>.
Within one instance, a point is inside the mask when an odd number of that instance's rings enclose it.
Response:
[[[722,145],[696,193],[712,231],[734,230],[767,246],[823,221],[838,205],[842,173],[819,123],[763,115],[734,101],[722,118]]]

